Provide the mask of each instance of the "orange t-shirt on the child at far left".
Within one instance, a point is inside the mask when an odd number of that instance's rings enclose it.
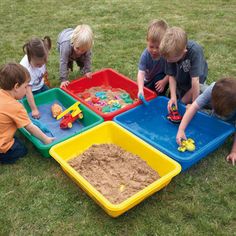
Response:
[[[30,122],[24,106],[0,89],[0,153],[11,148],[16,130]]]

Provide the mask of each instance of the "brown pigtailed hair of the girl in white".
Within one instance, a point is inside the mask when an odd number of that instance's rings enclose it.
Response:
[[[32,38],[23,45],[23,52],[27,54],[29,62],[32,58],[42,59],[47,61],[48,51],[52,47],[50,37],[45,36],[43,39]]]

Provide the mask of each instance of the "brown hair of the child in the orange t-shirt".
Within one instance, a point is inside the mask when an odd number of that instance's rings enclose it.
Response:
[[[21,86],[30,81],[28,70],[15,62],[2,65],[0,68],[0,87],[4,90],[12,90],[16,84]]]

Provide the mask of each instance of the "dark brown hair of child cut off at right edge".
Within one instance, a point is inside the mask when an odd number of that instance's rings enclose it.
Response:
[[[236,79],[218,80],[212,89],[211,103],[217,115],[231,115],[236,110]]]

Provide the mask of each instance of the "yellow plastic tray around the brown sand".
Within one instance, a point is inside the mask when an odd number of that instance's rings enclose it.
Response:
[[[94,144],[114,144],[126,152],[137,155],[156,171],[160,178],[122,202],[112,203],[68,163],[85,153]],[[61,165],[65,173],[112,217],[118,217],[148,196],[164,188],[181,171],[181,166],[176,161],[113,121],[104,122],[53,146],[50,149],[50,155]],[[125,183],[120,185],[119,189],[123,191],[124,188]]]

